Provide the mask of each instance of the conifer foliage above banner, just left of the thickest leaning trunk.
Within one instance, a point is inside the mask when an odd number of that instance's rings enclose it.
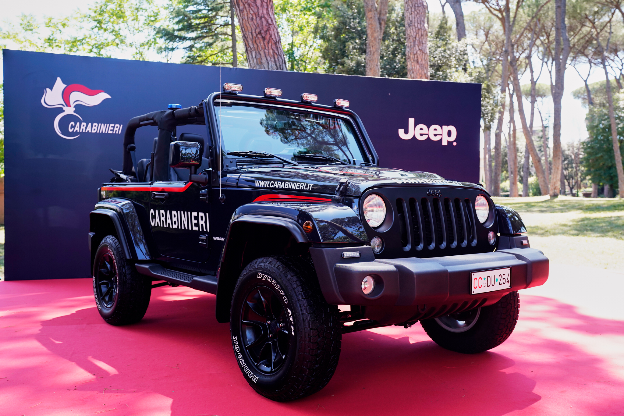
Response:
[[[232,64],[229,0],[170,0],[166,14],[167,23],[157,32],[165,42],[159,52],[172,54],[182,49],[185,64]],[[242,51],[242,45],[237,45],[238,62],[245,60]]]

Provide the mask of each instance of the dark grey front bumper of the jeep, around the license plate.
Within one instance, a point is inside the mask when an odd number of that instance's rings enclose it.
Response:
[[[359,251],[359,258],[342,253]],[[375,259],[368,246],[310,248],[323,296],[329,304],[418,307],[459,311],[487,306],[507,293],[540,286],[548,279],[548,258],[534,248],[433,258]],[[511,288],[471,294],[470,273],[511,268]],[[362,280],[373,275],[381,290],[362,292]],[[379,286],[378,286],[379,287]],[[444,307],[442,307],[444,306]]]

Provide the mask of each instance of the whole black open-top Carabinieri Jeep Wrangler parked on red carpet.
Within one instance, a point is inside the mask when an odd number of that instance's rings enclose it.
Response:
[[[548,278],[514,210],[479,184],[378,167],[346,100],[241,90],[128,123],[123,169],[90,213],[106,322],[140,321],[158,286],[216,294],[245,379],[280,401],[329,382],[347,332],[420,321],[467,354],[510,336],[518,290]],[[158,137],[137,161],[144,126]]]

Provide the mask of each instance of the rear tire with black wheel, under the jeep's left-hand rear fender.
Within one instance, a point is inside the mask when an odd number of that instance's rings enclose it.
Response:
[[[102,239],[95,252],[92,276],[95,305],[104,321],[127,325],[143,319],[150,303],[152,281],[126,260],[115,236]]]

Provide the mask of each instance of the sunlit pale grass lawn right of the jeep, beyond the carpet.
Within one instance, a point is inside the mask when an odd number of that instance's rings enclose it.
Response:
[[[624,200],[548,196],[492,198],[520,213],[531,246],[552,263],[624,273]]]

